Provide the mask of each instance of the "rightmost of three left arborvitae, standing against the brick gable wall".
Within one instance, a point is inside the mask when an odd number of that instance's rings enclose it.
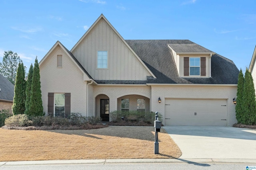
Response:
[[[42,106],[40,71],[39,71],[37,58],[35,60],[35,64],[33,68],[29,111],[30,111],[30,115],[34,115],[34,116],[44,115],[43,106]]]

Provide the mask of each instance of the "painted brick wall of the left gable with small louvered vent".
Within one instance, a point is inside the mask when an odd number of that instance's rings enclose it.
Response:
[[[57,68],[57,55],[62,55],[62,68]],[[40,81],[44,112],[48,113],[48,92],[70,93],[71,113],[86,115],[86,82],[83,73],[60,48],[56,47],[40,64]]]

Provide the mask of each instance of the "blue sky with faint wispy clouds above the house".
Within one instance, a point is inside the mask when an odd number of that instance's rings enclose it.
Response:
[[[71,50],[100,14],[124,39],[189,39],[249,67],[256,0],[0,0],[0,62],[18,53],[27,71],[60,41]]]

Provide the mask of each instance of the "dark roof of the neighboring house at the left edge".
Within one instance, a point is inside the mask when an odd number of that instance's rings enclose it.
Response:
[[[0,100],[12,102],[14,97],[14,85],[0,74]]]

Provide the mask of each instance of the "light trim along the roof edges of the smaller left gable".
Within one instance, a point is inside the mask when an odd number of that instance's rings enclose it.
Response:
[[[54,46],[50,49],[50,51],[44,56],[44,58],[39,62],[39,66],[44,63],[44,61],[47,59],[47,57],[52,53],[52,51],[54,51],[54,49],[56,49],[58,46],[60,46],[60,48],[66,53],[66,55],[68,55],[68,57],[73,61],[73,63],[77,66],[77,68],[83,73],[84,75],[84,81],[90,81],[92,79],[90,79],[88,77],[88,75],[84,72],[84,70],[82,70],[82,68],[76,63],[76,61],[73,59],[73,57],[68,53],[68,51],[66,51],[66,49],[63,47],[63,45],[60,43],[60,41],[57,41]]]

